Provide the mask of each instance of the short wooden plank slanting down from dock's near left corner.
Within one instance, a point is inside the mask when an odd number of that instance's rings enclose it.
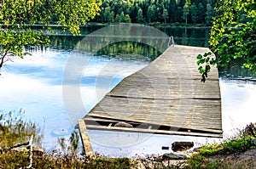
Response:
[[[93,156],[94,152],[90,144],[90,138],[84,120],[79,120],[79,132],[82,138],[82,144],[84,146],[85,155],[88,157]]]

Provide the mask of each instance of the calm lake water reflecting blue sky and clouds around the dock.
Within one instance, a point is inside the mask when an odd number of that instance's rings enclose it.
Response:
[[[85,35],[95,30],[93,26],[86,26],[82,33]],[[177,44],[199,47],[208,45],[209,29],[160,30],[173,36]],[[154,48],[137,42],[117,42],[92,55],[73,50],[84,36],[61,35],[50,38],[49,48],[29,48],[32,56],[7,63],[1,69],[0,76],[0,109],[4,112],[25,110],[26,118],[41,127],[44,134],[43,146],[47,150],[57,149],[57,138],[68,138],[73,132],[75,121],[90,111],[125,76],[142,69],[160,54]],[[67,112],[63,103],[63,73],[73,54],[79,59],[88,60],[79,80],[79,92],[85,108],[84,112],[79,113],[75,113],[79,110],[78,105],[73,104],[73,112]],[[224,138],[228,138],[236,132],[235,128],[256,122],[256,77],[242,68],[239,62],[232,62],[219,70],[219,80]],[[68,87],[75,86],[73,82],[68,84]],[[218,141],[212,138],[129,132],[89,131],[89,134],[93,149],[110,156],[163,154],[167,151],[161,147],[171,147],[172,142],[177,140],[193,140],[198,145]]]

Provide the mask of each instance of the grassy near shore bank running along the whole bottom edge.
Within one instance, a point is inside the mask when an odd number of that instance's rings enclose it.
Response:
[[[25,168],[29,166],[27,151],[8,150],[15,144],[26,142],[35,134],[39,143],[42,136],[37,126],[24,120],[23,112],[18,114],[0,113],[0,168]],[[35,143],[36,143],[35,142]],[[32,156],[33,168],[139,168],[140,161],[128,158],[93,159],[78,155],[79,135],[73,132],[69,140],[59,138],[60,152],[49,152],[44,155]],[[253,168],[253,163],[226,161],[224,159],[211,160],[212,155],[240,155],[248,149],[256,148],[256,125],[250,124],[241,131],[237,138],[224,141],[222,144],[211,144],[201,148],[184,163],[173,165],[160,161],[143,161],[145,168]]]

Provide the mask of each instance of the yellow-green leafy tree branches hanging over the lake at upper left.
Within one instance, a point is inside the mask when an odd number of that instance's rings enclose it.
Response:
[[[79,25],[93,19],[100,10],[96,0],[4,0],[0,1],[0,68],[13,56],[23,58],[26,46],[47,45],[50,24],[78,35]],[[32,25],[45,25],[44,31]]]

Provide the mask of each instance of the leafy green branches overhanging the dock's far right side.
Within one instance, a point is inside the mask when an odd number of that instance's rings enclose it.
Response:
[[[243,65],[255,70],[256,67],[256,3],[254,0],[219,0],[218,15],[213,19],[210,34],[210,48],[216,55],[198,55],[198,65],[205,80],[210,65],[223,67],[231,59],[242,59]]]

